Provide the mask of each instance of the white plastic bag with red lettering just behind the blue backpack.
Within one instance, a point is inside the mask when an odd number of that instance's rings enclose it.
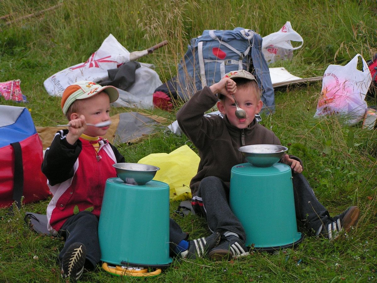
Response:
[[[286,22],[282,28],[262,38],[262,53],[267,64],[277,60],[287,60],[293,57],[293,50],[303,45],[303,39],[293,30],[291,22]],[[300,46],[293,47],[291,41],[301,42]]]

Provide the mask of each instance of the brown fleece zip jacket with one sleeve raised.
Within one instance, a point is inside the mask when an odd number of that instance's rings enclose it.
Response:
[[[212,108],[218,98],[205,86],[196,92],[177,112],[177,121],[184,134],[199,151],[198,173],[190,183],[192,195],[196,195],[200,181],[208,176],[221,178],[228,186],[230,170],[234,165],[246,160],[238,150],[243,145],[273,144],[280,145],[276,135],[254,121],[246,129],[231,125],[225,116],[205,117],[204,113]],[[301,160],[290,155],[290,158]]]

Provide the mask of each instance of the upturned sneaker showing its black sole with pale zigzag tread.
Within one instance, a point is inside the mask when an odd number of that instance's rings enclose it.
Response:
[[[86,247],[82,243],[73,243],[69,246],[61,264],[61,277],[70,278],[70,281],[76,282],[84,271],[86,257]]]

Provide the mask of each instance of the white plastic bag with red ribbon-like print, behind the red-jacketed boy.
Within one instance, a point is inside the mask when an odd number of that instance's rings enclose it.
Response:
[[[52,75],[43,82],[49,95],[61,96],[67,86],[81,80],[100,82],[108,78],[107,70],[130,61],[130,52],[110,34],[88,60]]]

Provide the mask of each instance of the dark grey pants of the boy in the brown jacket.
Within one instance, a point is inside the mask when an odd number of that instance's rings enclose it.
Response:
[[[292,176],[296,218],[306,228],[317,231],[322,222],[331,219],[330,215],[317,200],[306,178],[302,174],[292,173]],[[195,212],[205,216],[211,231],[220,234],[230,231],[245,242],[245,230],[229,206],[229,187],[220,178],[205,177],[196,197],[203,205],[195,206]]]

